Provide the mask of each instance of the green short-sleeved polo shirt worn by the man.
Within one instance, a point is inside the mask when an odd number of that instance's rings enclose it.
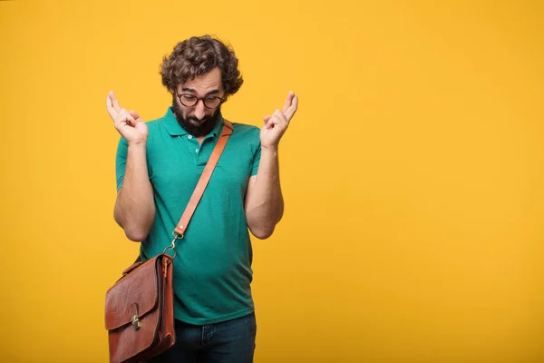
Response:
[[[141,257],[161,253],[189,203],[200,174],[223,127],[218,125],[199,145],[170,108],[164,117],[147,123],[147,164],[155,200],[155,221],[141,242]],[[233,123],[234,131],[209,180],[174,259],[174,316],[205,325],[253,312],[250,283],[252,250],[244,200],[248,180],[257,175],[259,129]],[[127,142],[117,150],[117,189],[122,186]]]

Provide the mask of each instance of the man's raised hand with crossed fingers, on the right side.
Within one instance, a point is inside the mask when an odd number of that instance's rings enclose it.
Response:
[[[298,97],[292,91],[287,95],[283,111],[276,110],[271,116],[263,117],[265,125],[260,132],[262,149],[277,149],[277,144],[287,131],[289,122],[296,113]]]

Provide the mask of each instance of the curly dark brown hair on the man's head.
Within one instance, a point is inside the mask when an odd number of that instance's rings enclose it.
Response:
[[[160,66],[162,84],[174,93],[180,83],[194,79],[219,67],[225,99],[238,92],[244,83],[238,71],[238,58],[234,51],[219,39],[209,35],[192,36],[176,44]]]

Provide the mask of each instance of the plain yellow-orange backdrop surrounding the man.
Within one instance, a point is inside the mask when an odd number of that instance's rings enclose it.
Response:
[[[193,34],[238,54],[228,119],[300,97],[254,240],[257,363],[544,361],[543,24],[529,0],[1,1],[0,361],[108,360],[137,244],[105,97],[160,117]]]

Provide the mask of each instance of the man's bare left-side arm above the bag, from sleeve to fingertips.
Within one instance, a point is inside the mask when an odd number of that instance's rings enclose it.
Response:
[[[138,113],[121,109],[112,92],[108,94],[106,103],[115,128],[128,145],[114,218],[129,240],[145,240],[155,219],[153,189],[146,159],[148,128]]]

